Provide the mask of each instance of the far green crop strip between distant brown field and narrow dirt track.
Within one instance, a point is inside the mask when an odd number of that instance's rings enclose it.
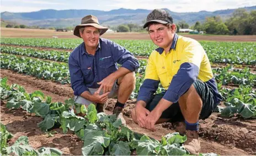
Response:
[[[115,40],[134,55],[148,57],[156,45],[148,40]],[[2,38],[1,43],[31,47],[74,49],[80,39],[56,38]],[[200,41],[212,63],[256,65],[256,45],[251,42]]]

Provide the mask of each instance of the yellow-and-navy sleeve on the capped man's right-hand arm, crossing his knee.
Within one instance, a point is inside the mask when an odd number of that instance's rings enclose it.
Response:
[[[199,75],[200,64],[205,55],[204,48],[199,43],[187,43],[182,51],[180,68],[164,94],[167,101],[176,103]]]

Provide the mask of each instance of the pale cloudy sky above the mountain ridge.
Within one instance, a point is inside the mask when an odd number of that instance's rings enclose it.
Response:
[[[172,12],[213,12],[222,9],[236,9],[256,5],[255,0],[1,0],[0,12],[35,12],[44,9],[92,9],[109,11],[113,9],[167,8]]]

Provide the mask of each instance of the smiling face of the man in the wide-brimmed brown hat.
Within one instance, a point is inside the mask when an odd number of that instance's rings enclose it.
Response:
[[[88,48],[95,48],[99,43],[99,30],[96,27],[85,27],[83,33],[80,32],[80,36]]]

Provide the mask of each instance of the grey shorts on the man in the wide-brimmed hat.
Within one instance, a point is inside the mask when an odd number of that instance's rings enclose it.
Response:
[[[112,90],[110,91],[110,93],[108,94],[108,98],[114,98],[118,96],[118,80],[116,80],[116,82],[114,83]],[[98,88],[88,88],[89,92],[91,94],[94,94],[94,92],[96,92],[98,90]],[[100,95],[103,93],[103,90],[100,91]],[[87,99],[81,97],[81,96],[74,96],[74,102],[76,103],[81,103],[81,104],[86,104],[89,105],[91,103],[95,104],[94,102],[88,101]]]

